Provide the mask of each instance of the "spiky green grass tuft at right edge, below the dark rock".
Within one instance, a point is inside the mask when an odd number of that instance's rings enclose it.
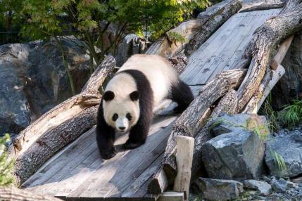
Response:
[[[281,121],[289,128],[302,122],[302,101],[293,100],[291,105],[286,105],[281,112]]]

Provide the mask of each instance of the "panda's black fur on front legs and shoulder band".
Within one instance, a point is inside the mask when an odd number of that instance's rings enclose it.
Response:
[[[124,70],[118,73],[130,74],[136,84],[137,92],[132,94],[130,98],[135,100],[139,98],[139,110],[140,116],[137,124],[130,129],[129,138],[123,145],[125,149],[137,148],[146,142],[146,137],[151,125],[151,120],[153,117],[153,91],[151,85],[146,78],[146,76],[139,70]],[[103,159],[108,159],[113,157],[116,152],[113,146],[115,139],[115,131],[113,128],[106,124],[103,118],[103,100],[99,106],[97,127],[96,127],[96,141],[98,143],[99,151]]]

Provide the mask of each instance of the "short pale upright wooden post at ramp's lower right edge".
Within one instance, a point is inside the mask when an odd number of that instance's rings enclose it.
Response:
[[[193,159],[194,138],[187,136],[176,137],[177,175],[174,181],[174,191],[184,192],[185,200],[189,200],[191,167]]]

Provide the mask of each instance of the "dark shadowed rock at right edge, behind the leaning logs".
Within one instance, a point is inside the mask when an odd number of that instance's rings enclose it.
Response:
[[[282,109],[289,100],[302,98],[302,32],[294,37],[282,66],[285,74],[272,89],[272,105],[276,109]]]

